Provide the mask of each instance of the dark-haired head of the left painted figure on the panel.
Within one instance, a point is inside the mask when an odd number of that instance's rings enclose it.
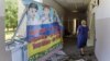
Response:
[[[31,3],[31,4],[29,5],[29,14],[30,14],[30,16],[31,16],[32,19],[35,17],[37,10],[38,10],[37,4]]]

